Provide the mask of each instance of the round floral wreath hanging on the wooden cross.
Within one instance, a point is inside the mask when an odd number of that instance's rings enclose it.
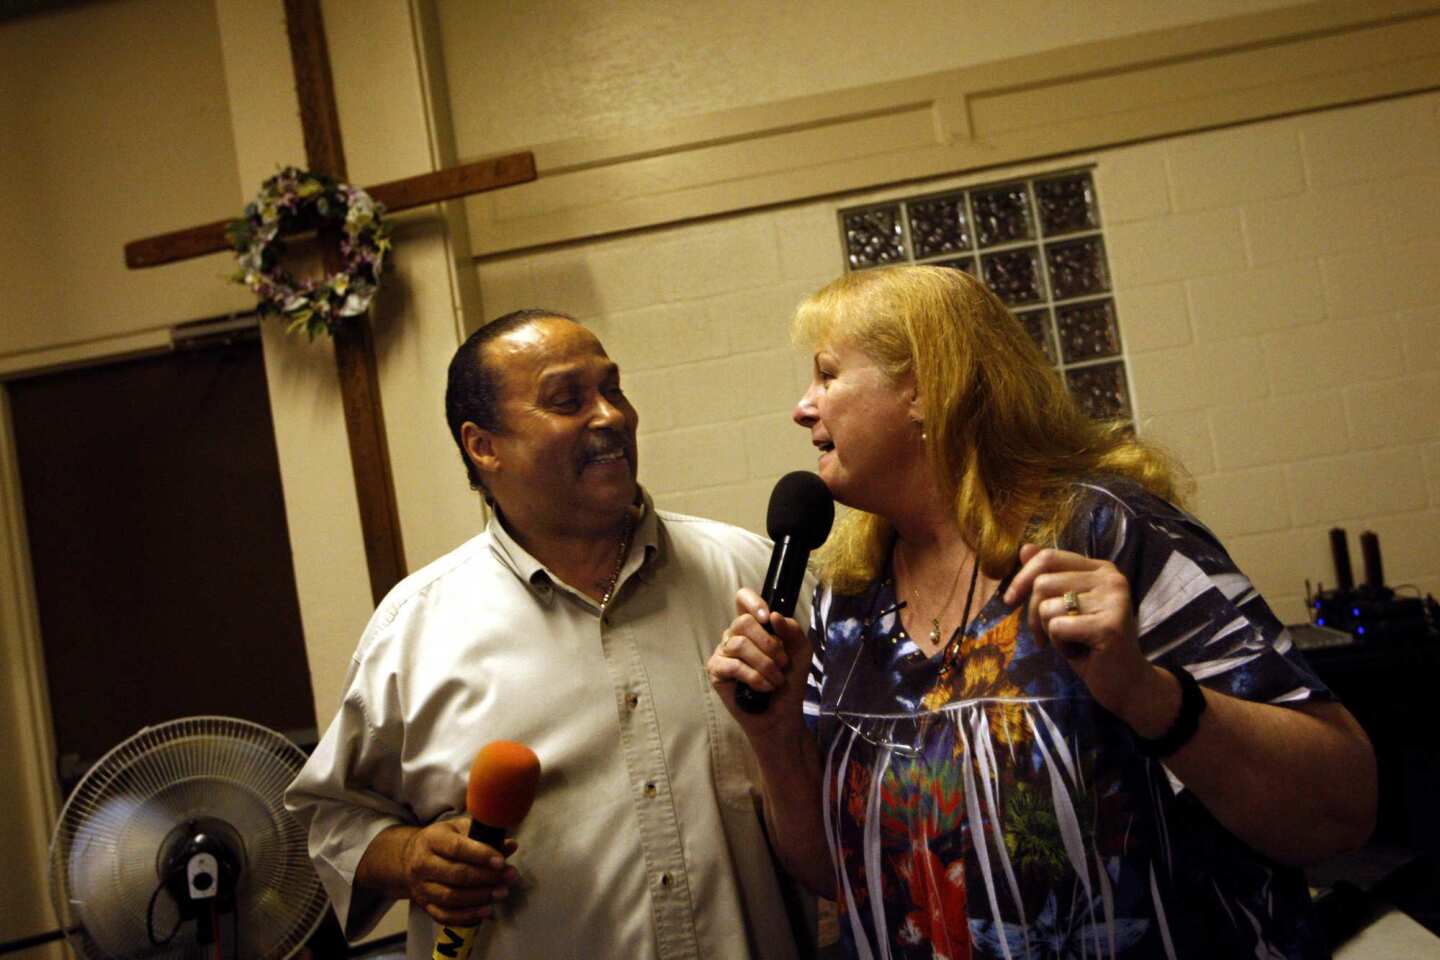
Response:
[[[285,167],[261,186],[230,220],[225,235],[235,248],[239,269],[230,276],[261,298],[262,315],[288,320],[287,332],[304,330],[311,338],[334,334],[347,318],[370,309],[379,289],[384,256],[390,252],[390,226],[380,219],[384,206],[369,193],[324,174]],[[341,227],[344,266],[323,281],[297,281],[281,266],[282,235],[314,230],[325,223]]]

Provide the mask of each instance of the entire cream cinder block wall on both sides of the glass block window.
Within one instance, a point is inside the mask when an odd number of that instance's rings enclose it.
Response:
[[[811,468],[795,304],[844,268],[837,210],[1094,164],[1140,432],[1286,620],[1374,530],[1440,593],[1440,95],[1410,96],[487,261],[487,317],[590,324],[641,412],[660,505],[763,530]]]

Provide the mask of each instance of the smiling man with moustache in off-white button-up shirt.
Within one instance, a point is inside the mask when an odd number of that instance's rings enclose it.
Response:
[[[478,957],[795,957],[704,671],[769,541],[652,507],[619,368],[570,318],[477,331],[445,404],[490,522],[382,602],[287,794],[347,937],[408,898],[410,960],[436,923],[478,923]],[[459,816],[491,740],[543,769],[508,861]]]

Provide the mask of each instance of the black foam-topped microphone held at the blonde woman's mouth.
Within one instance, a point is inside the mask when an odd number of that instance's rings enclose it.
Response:
[[[795,613],[801,586],[805,583],[805,563],[809,551],[825,543],[829,525],[835,522],[835,501],[829,488],[809,471],[786,474],[770,491],[770,507],[765,514],[765,531],[775,541],[770,569],[765,573],[760,600],[768,610],[780,616]],[[763,625],[766,630],[769,623]],[[734,702],[747,714],[763,714],[770,705],[770,694],[744,684],[734,685]]]

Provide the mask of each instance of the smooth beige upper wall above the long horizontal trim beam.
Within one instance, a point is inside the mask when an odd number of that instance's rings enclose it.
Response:
[[[1299,0],[438,0],[461,157]]]

